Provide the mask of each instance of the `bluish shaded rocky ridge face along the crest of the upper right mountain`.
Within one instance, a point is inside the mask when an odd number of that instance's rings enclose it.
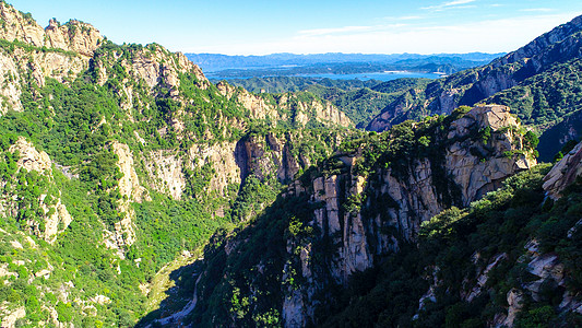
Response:
[[[368,129],[383,131],[394,124],[426,112],[449,114],[460,105],[473,106],[502,91],[526,86],[532,83],[530,78],[580,58],[581,31],[582,17],[579,16],[487,66],[439,79],[424,91],[412,91],[407,97],[400,97],[390,104],[383,113],[370,121]],[[487,102],[500,103],[501,99],[507,101],[514,96],[506,94],[503,97]],[[514,106],[513,103],[511,105]],[[544,107],[544,104],[536,104],[534,107],[537,106]],[[524,120],[532,116],[531,108],[513,109]]]

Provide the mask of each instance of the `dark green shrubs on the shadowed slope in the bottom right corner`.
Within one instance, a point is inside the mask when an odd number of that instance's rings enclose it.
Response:
[[[524,292],[515,327],[557,325],[574,327],[582,316],[559,317],[556,300],[565,291],[580,292],[582,268],[580,230],[569,233],[580,215],[580,185],[556,203],[544,199],[542,179],[547,166],[509,178],[504,187],[489,192],[468,209],[452,208],[423,225],[417,246],[380,260],[372,270],[356,274],[331,307],[319,312],[325,327],[483,327],[508,306],[510,290]],[[555,251],[566,265],[569,279],[558,286],[551,277],[538,293],[527,290],[535,276],[527,271],[524,248],[533,239],[539,250]],[[477,256],[476,261],[472,260]],[[484,291],[472,302],[466,296],[484,266],[501,258],[488,272]],[[418,309],[435,274],[435,302]],[[465,281],[465,283],[460,283]],[[535,298],[532,298],[532,296]]]

